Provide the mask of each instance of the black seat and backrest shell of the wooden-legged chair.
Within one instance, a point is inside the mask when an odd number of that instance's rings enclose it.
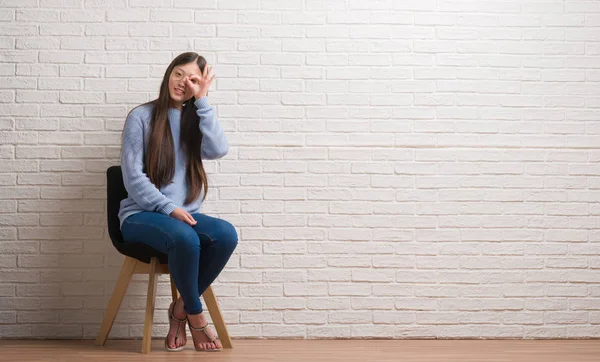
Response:
[[[119,208],[121,200],[127,198],[127,190],[123,184],[121,166],[110,166],[106,170],[106,216],[108,234],[114,247],[123,255],[130,256],[144,263],[150,258],[158,258],[161,264],[167,264],[168,255],[143,243],[125,242],[119,227]]]

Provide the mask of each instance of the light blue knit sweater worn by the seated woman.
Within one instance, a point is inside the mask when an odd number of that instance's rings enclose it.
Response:
[[[200,151],[202,159],[215,160],[225,156],[229,151],[229,143],[216,118],[214,107],[210,106],[207,97],[197,99],[195,104],[198,107],[196,113],[200,117],[199,131],[203,135]],[[182,207],[189,213],[199,212],[205,193],[203,188],[198,199],[190,204],[183,204],[187,196],[186,163],[179,146],[181,111],[175,108],[169,108],[169,123],[173,134],[176,163],[173,180],[171,184],[163,186],[159,190],[143,172],[143,157],[144,150],[148,150],[152,109],[153,105],[151,104],[138,106],[129,113],[125,121],[121,170],[125,189],[129,195],[121,201],[119,209],[121,227],[128,216],[144,210],[169,215],[176,208]]]

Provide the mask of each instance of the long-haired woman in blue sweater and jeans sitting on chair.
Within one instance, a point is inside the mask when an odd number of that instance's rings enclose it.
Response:
[[[183,349],[186,321],[196,350],[222,348],[200,302],[238,241],[229,222],[199,212],[208,188],[202,160],[229,150],[208,103],[214,77],[203,57],[180,54],[165,72],[158,99],[134,108],[123,130],[121,168],[129,194],[119,210],[123,238],[168,254],[181,294],[169,306],[168,351]]]

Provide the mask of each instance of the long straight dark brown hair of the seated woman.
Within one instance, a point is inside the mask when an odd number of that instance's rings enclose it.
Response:
[[[152,119],[150,121],[150,135],[148,140],[148,152],[146,153],[146,174],[157,188],[168,185],[175,175],[175,149],[173,145],[173,134],[169,123],[168,112],[171,97],[169,95],[169,78],[173,68],[181,64],[196,62],[200,71],[204,71],[206,59],[194,52],[178,55],[167,70],[160,85],[158,98],[149,102],[154,105]],[[204,187],[204,197],[208,191],[208,180],[200,149],[202,145],[202,134],[200,133],[200,119],[196,114],[198,108],[194,104],[195,98],[186,101],[181,110],[181,149],[186,155],[185,178],[188,185],[185,203],[189,204],[196,200]]]

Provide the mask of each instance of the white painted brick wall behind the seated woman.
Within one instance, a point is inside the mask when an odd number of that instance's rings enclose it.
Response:
[[[600,1],[2,0],[0,338],[95,337],[104,172],[187,50],[232,145],[234,336],[600,336]]]

